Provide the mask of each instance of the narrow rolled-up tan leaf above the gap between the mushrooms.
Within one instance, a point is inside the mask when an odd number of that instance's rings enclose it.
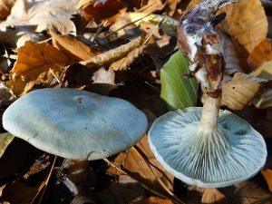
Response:
[[[110,65],[122,57],[126,56],[128,53],[131,53],[134,49],[141,46],[144,43],[146,35],[141,35],[140,37],[131,40],[128,44],[122,44],[121,46],[109,50],[105,53],[100,53],[89,60],[81,62],[81,64],[88,66],[89,68],[93,66],[104,66]]]

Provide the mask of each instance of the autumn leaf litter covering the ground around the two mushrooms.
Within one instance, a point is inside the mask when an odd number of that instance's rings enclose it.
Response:
[[[226,61],[222,108],[237,112],[260,131],[270,155],[271,14],[265,13],[264,2],[240,0],[222,9],[227,18],[217,29]],[[2,1],[0,53],[8,63],[0,63],[1,83],[7,87],[0,94],[1,112],[16,97],[46,87],[126,99],[146,113],[149,126],[167,109],[201,106],[186,58],[174,49],[180,16],[198,3]],[[272,166],[253,180],[204,190],[175,182],[155,159],[146,136],[107,162],[71,165],[32,146],[22,148],[18,160],[17,143],[26,143],[2,132],[1,203],[272,203]]]

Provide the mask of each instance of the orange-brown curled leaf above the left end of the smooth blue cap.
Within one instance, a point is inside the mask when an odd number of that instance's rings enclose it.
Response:
[[[26,42],[18,49],[18,59],[7,85],[16,95],[22,95],[35,84],[61,82],[68,62],[69,59],[50,44]]]

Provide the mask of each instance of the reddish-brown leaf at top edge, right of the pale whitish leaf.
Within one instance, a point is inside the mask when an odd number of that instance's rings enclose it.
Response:
[[[80,2],[78,7],[83,11],[85,21],[101,22],[107,18],[117,15],[119,11],[126,7],[124,0],[103,0],[103,1],[89,1],[87,4]]]

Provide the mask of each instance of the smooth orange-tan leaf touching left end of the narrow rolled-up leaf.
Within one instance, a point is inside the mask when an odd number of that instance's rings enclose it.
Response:
[[[51,32],[51,36],[53,46],[65,53],[65,55],[73,62],[88,60],[92,56],[100,53],[97,49],[91,48],[76,40],[74,36],[54,34],[53,32]]]

